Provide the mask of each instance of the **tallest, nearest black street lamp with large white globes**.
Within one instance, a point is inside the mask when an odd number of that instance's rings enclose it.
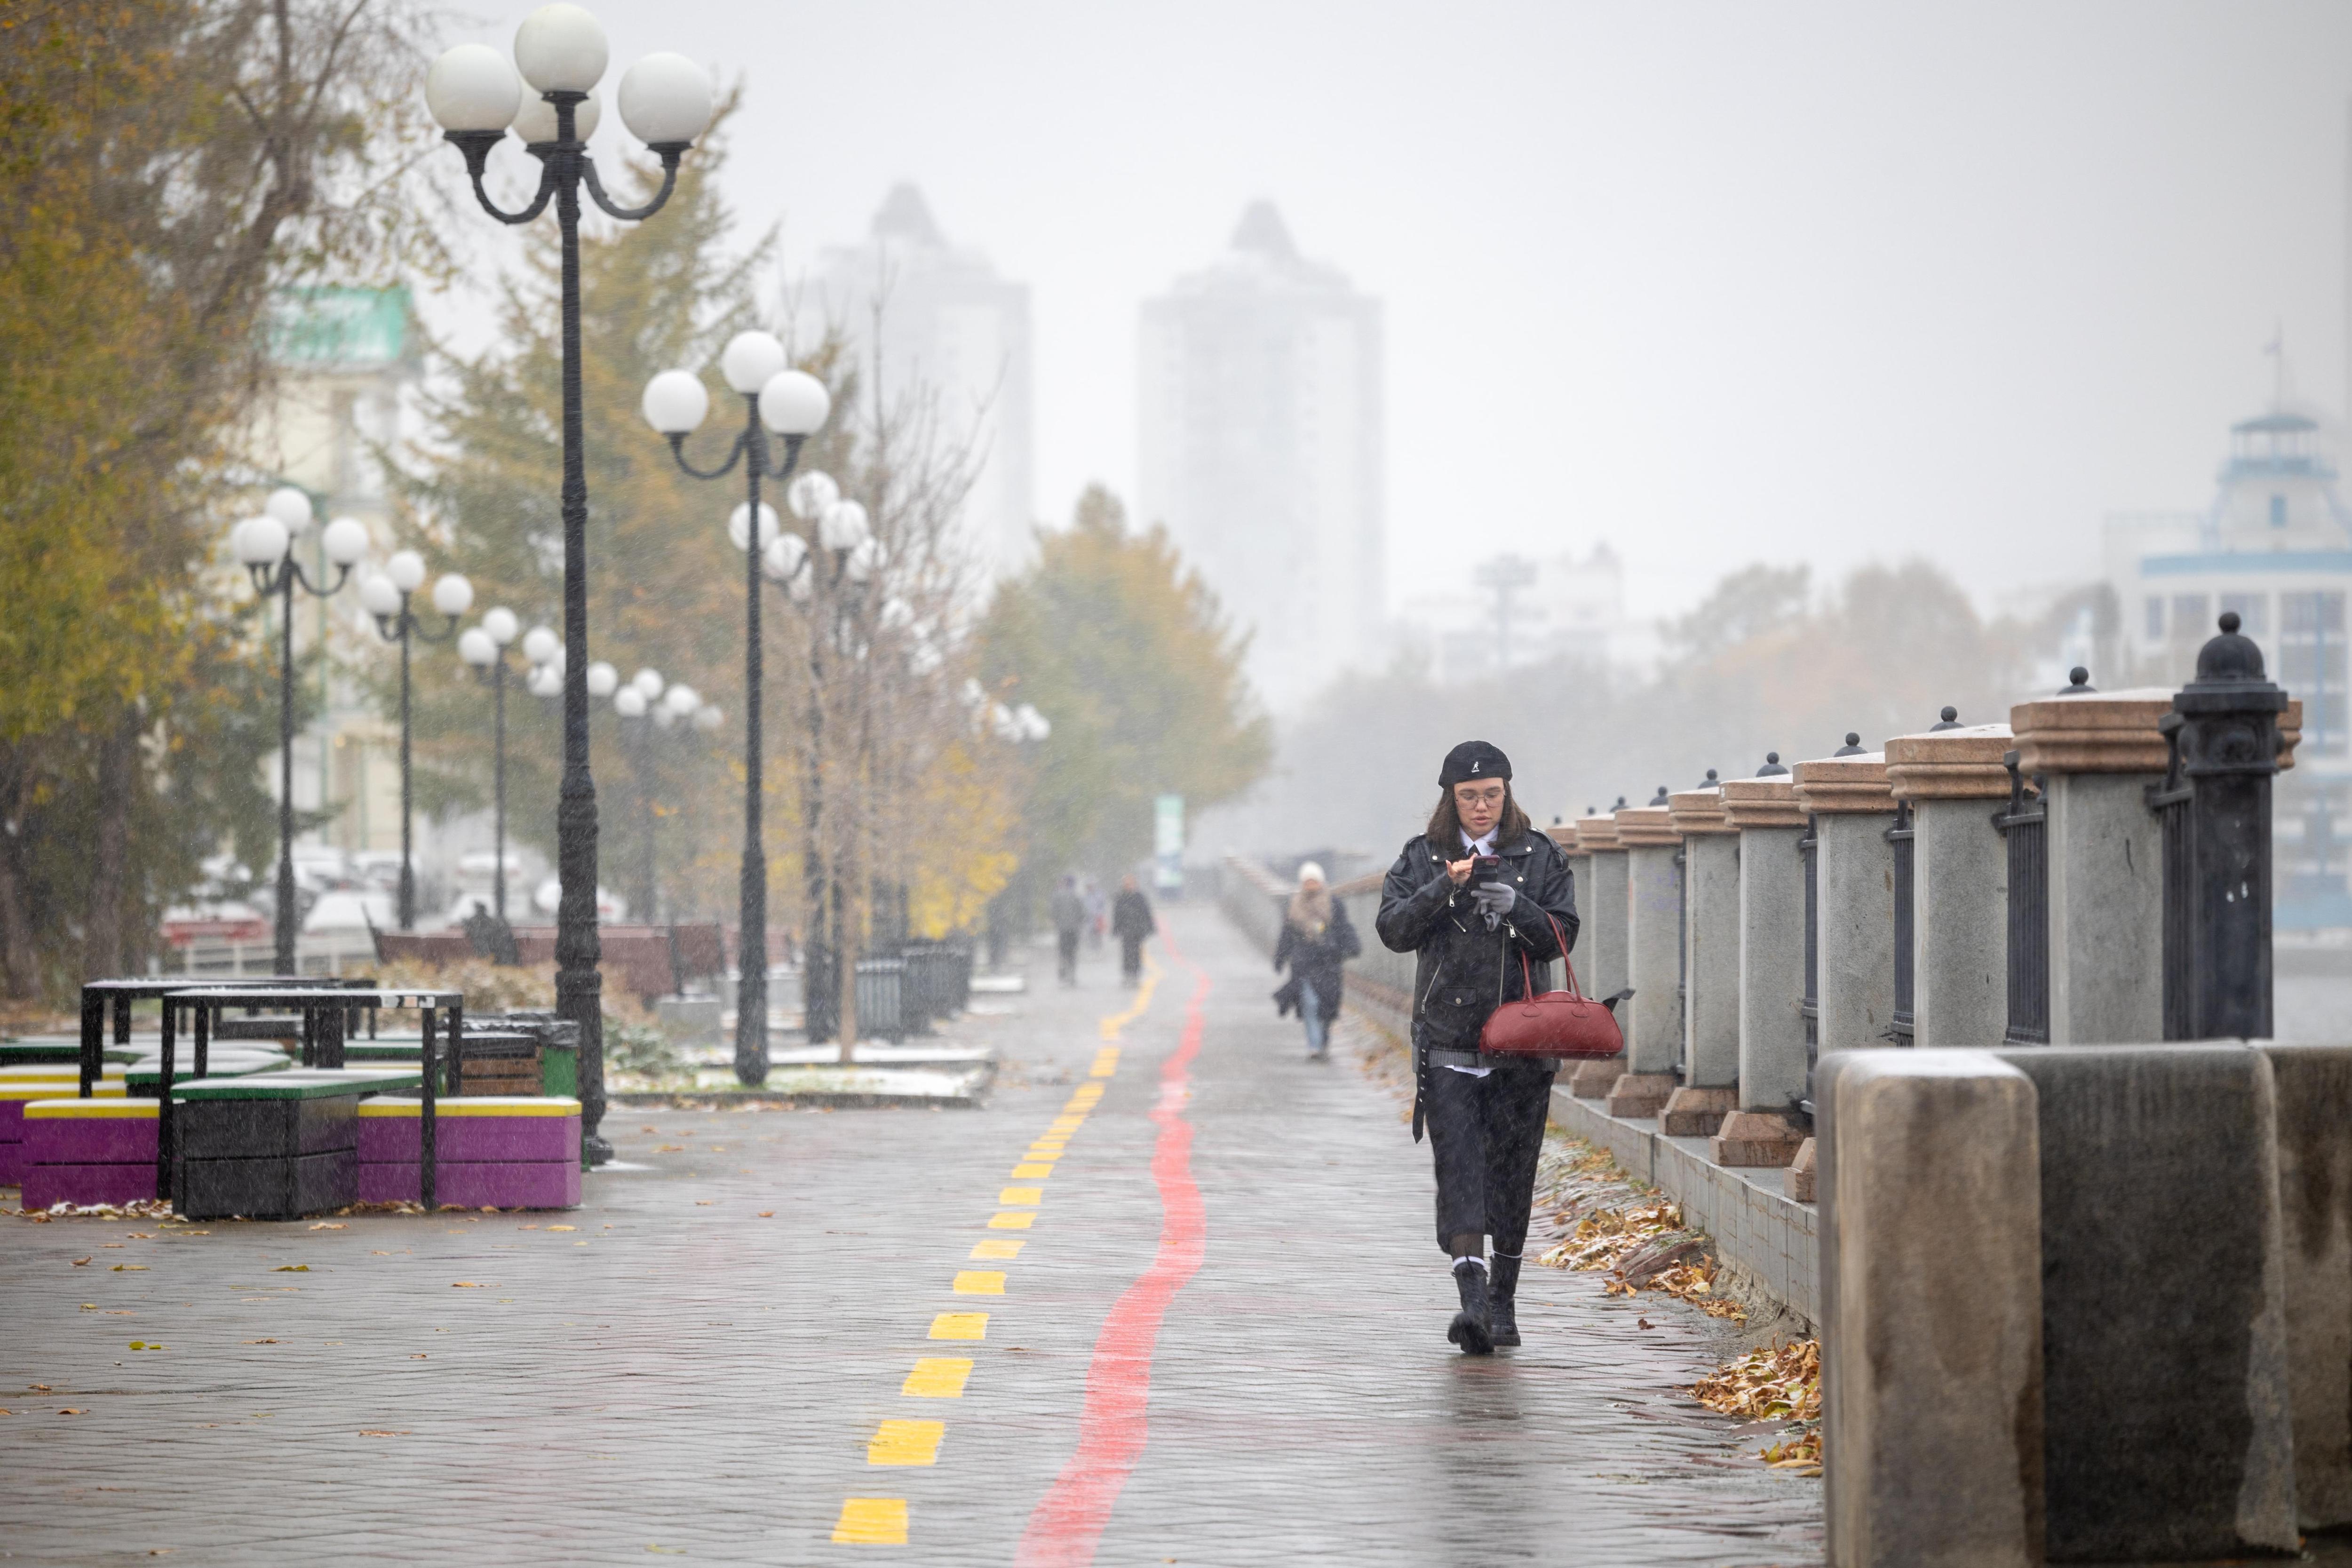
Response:
[[[562,395],[564,395],[564,642],[581,663],[564,679],[564,780],[555,811],[555,863],[562,898],[555,917],[555,1009],[581,1037],[581,1147],[590,1164],[612,1159],[597,1135],[604,1117],[604,978],[595,931],[595,778],[588,769],[588,468],[581,416],[581,186],[621,221],[661,212],[677,186],[677,160],[710,125],[710,75],[682,54],[647,54],[621,75],[621,120],[661,158],[661,190],[642,207],[619,207],[588,158],[597,122],[595,85],[604,78],[604,28],[576,5],[543,5],[515,28],[515,59],[487,45],[449,49],[426,75],[426,103],[442,134],[466,158],[482,212],[501,223],[529,223],[548,202],[562,237]],[[539,94],[524,101],[517,68]],[[539,160],[539,190],[522,212],[506,212],[482,174],[508,127]],[[503,872],[503,867],[501,867]]]

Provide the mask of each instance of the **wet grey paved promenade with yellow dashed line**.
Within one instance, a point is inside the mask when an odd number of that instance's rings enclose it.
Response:
[[[955,1025],[1004,1053],[981,1110],[616,1107],[623,1168],[567,1213],[0,1220],[0,1556],[1820,1561],[1820,1483],[1684,1392],[1708,1319],[1529,1267],[1522,1349],[1446,1345],[1397,1100],[1303,1060],[1216,910],[1164,924],[1200,969],[1155,943],[1115,1044],[1108,952]],[[1138,1366],[1096,1340],[1162,1248],[1167,1128],[1204,1232]],[[1033,1528],[1065,1469],[1101,1495],[1122,1462],[1096,1540]]]

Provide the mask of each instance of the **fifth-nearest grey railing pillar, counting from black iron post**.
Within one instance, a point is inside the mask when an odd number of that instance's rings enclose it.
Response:
[[[1740,1103],[1740,835],[1722,785],[1675,795],[1668,809],[1682,835],[1684,1081],[1658,1131],[1708,1138]]]

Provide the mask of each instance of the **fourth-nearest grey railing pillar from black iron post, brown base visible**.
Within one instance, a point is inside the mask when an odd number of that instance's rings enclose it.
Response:
[[[1778,757],[1773,773],[1724,780],[1724,823],[1740,839],[1738,1110],[1710,1152],[1726,1166],[1785,1166],[1804,1140],[1804,811]]]

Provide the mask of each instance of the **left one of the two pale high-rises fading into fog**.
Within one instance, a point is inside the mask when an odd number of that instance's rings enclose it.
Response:
[[[941,437],[983,454],[964,524],[995,571],[1016,571],[1035,524],[1028,284],[948,244],[922,190],[901,183],[863,244],[818,256],[795,336],[814,343],[828,324],[849,339],[861,397],[875,395],[880,371],[887,402],[931,397]]]

